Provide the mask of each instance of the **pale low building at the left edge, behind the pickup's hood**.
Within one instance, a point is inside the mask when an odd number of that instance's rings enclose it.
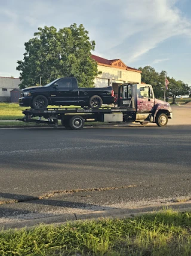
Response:
[[[0,77],[0,102],[11,101],[11,91],[19,89],[20,79],[12,77]]]

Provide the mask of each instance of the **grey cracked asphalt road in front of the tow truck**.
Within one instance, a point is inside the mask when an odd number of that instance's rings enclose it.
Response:
[[[191,197],[191,119],[183,118],[191,108],[185,111],[175,108],[164,128],[0,129],[0,204],[52,191],[46,205],[84,208]],[[15,214],[15,205],[2,204],[0,216]]]

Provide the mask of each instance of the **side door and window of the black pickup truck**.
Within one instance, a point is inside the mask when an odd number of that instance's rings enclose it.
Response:
[[[73,87],[72,79],[60,79],[51,87],[50,98],[55,105],[72,105],[78,101],[78,88]]]

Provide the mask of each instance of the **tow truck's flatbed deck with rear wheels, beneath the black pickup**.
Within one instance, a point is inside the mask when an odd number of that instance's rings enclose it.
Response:
[[[100,109],[82,109],[78,107],[26,109],[23,110],[24,117],[17,120],[57,126],[58,120],[60,119],[61,124],[66,128],[82,129],[84,127],[84,122],[88,119],[104,122],[104,114],[121,113],[121,116],[128,116],[133,115],[135,112],[136,110],[132,107],[102,107]],[[39,119],[33,119],[36,117]],[[41,120],[41,118],[45,118],[47,120]],[[123,121],[124,118],[122,118],[121,122]],[[113,118],[113,122],[115,122],[115,118]]]

